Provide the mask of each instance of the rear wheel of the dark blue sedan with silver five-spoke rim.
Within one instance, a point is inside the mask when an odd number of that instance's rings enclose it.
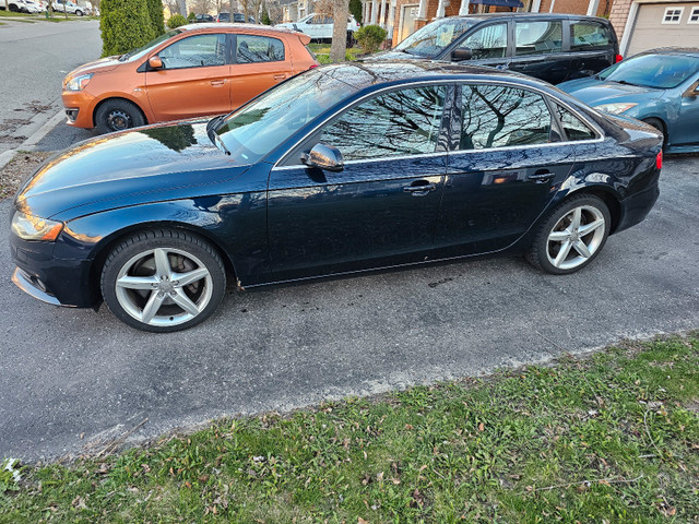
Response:
[[[576,210],[579,210],[578,228],[573,225]],[[609,236],[611,225],[612,214],[602,199],[593,194],[573,195],[541,223],[526,260],[546,273],[574,273],[602,251]]]

